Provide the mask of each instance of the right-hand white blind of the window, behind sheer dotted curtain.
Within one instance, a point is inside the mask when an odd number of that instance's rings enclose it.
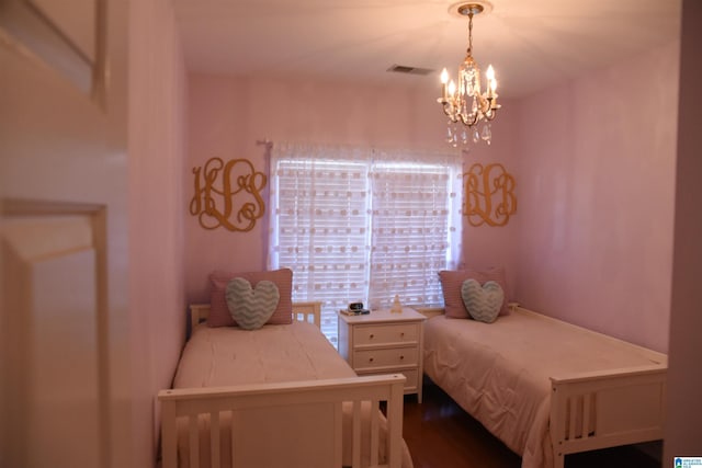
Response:
[[[435,274],[451,262],[451,178],[443,164],[373,164],[370,303],[438,306]]]

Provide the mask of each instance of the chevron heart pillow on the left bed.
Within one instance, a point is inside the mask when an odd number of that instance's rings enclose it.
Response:
[[[231,318],[245,330],[256,330],[271,318],[281,295],[270,281],[260,281],[256,287],[241,277],[229,281],[225,297]]]

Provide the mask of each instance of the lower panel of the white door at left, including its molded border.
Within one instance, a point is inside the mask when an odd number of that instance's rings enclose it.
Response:
[[[110,463],[103,219],[100,207],[5,202],[3,466]]]

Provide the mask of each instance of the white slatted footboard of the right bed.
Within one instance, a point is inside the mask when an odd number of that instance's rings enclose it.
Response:
[[[552,377],[554,466],[578,452],[663,438],[666,367]]]

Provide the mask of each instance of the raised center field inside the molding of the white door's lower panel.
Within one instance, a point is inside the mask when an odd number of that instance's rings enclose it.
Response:
[[[98,342],[104,338],[97,335],[95,252],[60,252],[29,266],[29,427],[42,447],[30,452],[29,466],[102,466]],[[83,449],[75,449],[76,440]]]

